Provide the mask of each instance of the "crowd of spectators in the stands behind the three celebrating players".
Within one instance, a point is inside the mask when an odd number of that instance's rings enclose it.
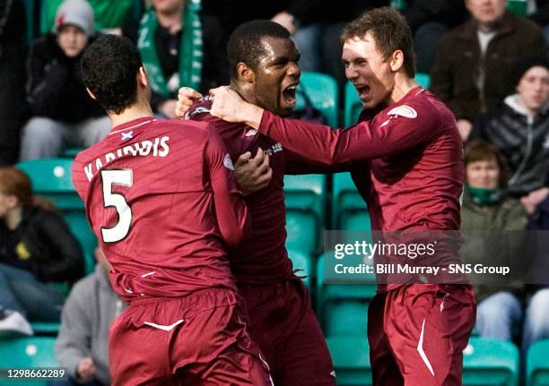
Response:
[[[327,73],[344,90],[339,41],[344,24],[367,9],[398,5],[414,31],[417,70],[430,74],[431,92],[452,109],[466,144],[462,228],[545,230],[549,1],[527,1],[526,15],[520,16],[507,10],[505,0],[396,3],[0,1],[0,321],[59,320],[65,296],[49,281],[73,283],[83,276],[74,236],[55,210],[32,198],[26,177],[9,166],[57,157],[109,133],[109,119],[83,87],[79,68],[83,50],[100,33],[135,41],[151,81],[154,113],[171,118],[179,87],[205,93],[229,81],[224,47],[243,21],[282,24],[300,48],[301,70]],[[483,248],[466,243],[464,258],[483,262]],[[514,258],[521,253],[517,249]],[[110,290],[108,263],[99,250],[96,257],[98,268],[66,301],[57,356],[74,369],[75,379],[108,384],[104,339],[123,305]],[[549,337],[549,289],[519,281],[475,289],[480,335],[521,336],[525,349]],[[30,333],[30,325],[23,323],[21,330]]]

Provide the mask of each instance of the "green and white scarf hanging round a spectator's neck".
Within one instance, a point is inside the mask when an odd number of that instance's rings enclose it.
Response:
[[[187,86],[200,89],[202,81],[202,22],[199,17],[200,0],[187,0],[183,13],[183,30],[179,46],[179,87]],[[139,28],[137,47],[141,53],[145,70],[151,81],[151,88],[164,98],[171,98],[175,90],[168,88],[168,81],[162,73],[160,60],[154,46],[154,32],[158,28],[158,19],[154,9],[144,14]]]

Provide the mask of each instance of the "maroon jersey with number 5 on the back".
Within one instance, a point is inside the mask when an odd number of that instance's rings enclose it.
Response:
[[[127,299],[235,288],[226,246],[248,213],[219,135],[207,124],[144,117],[74,159],[88,220]]]

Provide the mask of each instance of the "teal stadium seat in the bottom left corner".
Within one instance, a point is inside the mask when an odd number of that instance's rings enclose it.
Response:
[[[46,386],[48,381],[7,380],[8,369],[57,367],[54,337],[25,337],[0,339],[0,386]]]

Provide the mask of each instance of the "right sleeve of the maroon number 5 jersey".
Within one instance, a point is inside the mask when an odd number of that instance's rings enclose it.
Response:
[[[225,242],[234,247],[240,244],[244,235],[248,233],[248,208],[232,176],[234,167],[231,156],[215,130],[209,130],[205,157],[210,173],[217,222]]]

